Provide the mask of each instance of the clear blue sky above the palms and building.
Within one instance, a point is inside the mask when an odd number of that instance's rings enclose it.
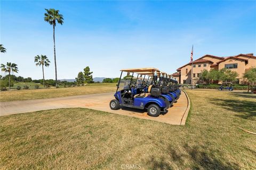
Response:
[[[23,77],[42,79],[34,56],[46,55],[54,79],[52,26],[44,8],[60,10],[58,79],[90,66],[93,77],[118,77],[129,67],[173,73],[205,54],[256,53],[256,1],[1,1],[1,63],[18,64]],[[2,73],[4,75],[4,73]]]

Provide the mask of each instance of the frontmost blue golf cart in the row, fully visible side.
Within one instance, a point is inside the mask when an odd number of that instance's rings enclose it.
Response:
[[[140,72],[152,72],[159,71],[155,68],[139,68],[139,69],[122,69],[121,75],[117,84],[116,93],[114,95],[115,99],[111,100],[109,106],[113,110],[120,109],[122,107],[130,107],[137,109],[147,109],[149,116],[158,116],[161,113],[166,113],[167,109],[170,107],[169,100],[161,95],[159,88],[151,84],[148,86],[148,91],[143,90],[143,87],[137,86],[137,79],[135,83],[133,82],[133,75]],[[122,74],[123,72],[132,73],[131,80],[129,84],[125,84],[122,89]],[[154,79],[156,83],[156,79]],[[136,89],[136,90],[135,90]],[[136,92],[135,92],[136,91]],[[134,93],[135,92],[135,93]]]

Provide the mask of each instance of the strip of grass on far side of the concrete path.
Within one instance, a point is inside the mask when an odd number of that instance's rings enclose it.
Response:
[[[23,87],[23,86],[22,86]],[[33,86],[34,87],[34,86]],[[1,91],[0,101],[32,100],[53,97],[97,94],[116,90],[116,83],[92,83],[70,88]]]

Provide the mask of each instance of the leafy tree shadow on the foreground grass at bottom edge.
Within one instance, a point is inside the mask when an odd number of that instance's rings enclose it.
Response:
[[[202,151],[197,146],[190,147],[185,145],[183,147],[185,149],[185,153],[181,154],[177,149],[172,148],[171,146],[167,149],[171,160],[166,160],[166,158],[156,159],[155,157],[151,157],[148,161],[151,169],[174,169],[168,162],[173,162],[178,167],[184,166],[184,163],[188,163],[189,169],[227,169],[234,170],[239,169],[236,163],[230,163],[229,160],[221,158],[216,158],[215,156]],[[207,150],[207,148],[203,148],[203,150]],[[209,152],[209,151],[208,151]],[[185,165],[186,167],[186,165]],[[183,168],[185,168],[183,167]],[[185,168],[186,169],[186,168]]]

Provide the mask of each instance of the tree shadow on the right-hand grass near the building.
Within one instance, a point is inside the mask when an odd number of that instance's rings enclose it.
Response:
[[[239,95],[241,97],[241,95]],[[253,119],[256,116],[256,102],[245,100],[232,100],[232,99],[213,99],[207,98],[211,103],[225,108],[228,111],[238,113],[236,116],[244,119]]]

